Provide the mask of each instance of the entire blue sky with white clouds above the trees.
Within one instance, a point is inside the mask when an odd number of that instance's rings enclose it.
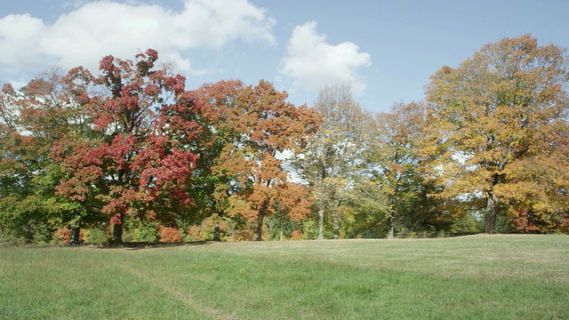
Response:
[[[156,49],[188,89],[272,82],[296,105],[348,84],[373,112],[424,99],[429,76],[484,44],[527,33],[569,47],[563,0],[0,1],[0,83]]]

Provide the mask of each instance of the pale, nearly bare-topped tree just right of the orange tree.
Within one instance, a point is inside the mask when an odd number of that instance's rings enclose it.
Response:
[[[325,212],[332,216],[333,235],[338,236],[338,209],[348,196],[350,180],[363,169],[362,153],[373,117],[353,100],[346,85],[322,89],[313,109],[322,116],[320,130],[294,165],[313,188],[318,239],[324,239]]]

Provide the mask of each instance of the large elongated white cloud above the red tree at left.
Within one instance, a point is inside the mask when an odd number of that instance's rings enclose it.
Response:
[[[0,19],[0,68],[17,72],[57,64],[95,71],[107,54],[128,59],[153,48],[189,72],[185,51],[219,50],[237,40],[276,43],[275,20],[248,0],[186,0],[180,12],[136,2],[76,4],[52,25],[29,14]]]

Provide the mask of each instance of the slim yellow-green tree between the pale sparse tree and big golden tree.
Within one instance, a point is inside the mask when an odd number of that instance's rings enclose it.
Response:
[[[370,165],[373,180],[385,197],[388,238],[397,224],[417,228],[429,219],[429,206],[417,155],[424,125],[423,103],[397,103],[390,113],[376,116]],[[405,222],[405,223],[404,223]]]

